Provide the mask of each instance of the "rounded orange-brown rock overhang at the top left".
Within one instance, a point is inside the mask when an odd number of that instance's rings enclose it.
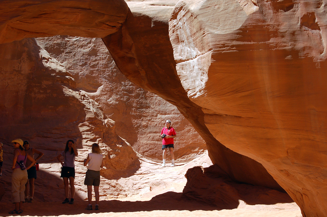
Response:
[[[0,43],[53,35],[102,38],[117,31],[127,13],[123,0],[2,1]]]

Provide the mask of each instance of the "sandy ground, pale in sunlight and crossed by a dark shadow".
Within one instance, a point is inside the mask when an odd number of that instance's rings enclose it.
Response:
[[[157,216],[157,217],[301,217],[301,210],[296,203],[276,203],[272,205],[248,205],[239,200],[237,209],[217,210],[213,206],[199,203],[182,196],[186,184],[184,174],[188,168],[197,165],[210,166],[207,154],[189,163],[175,167],[161,167],[160,164],[140,158],[141,168],[128,178],[120,178],[119,184],[124,186],[126,197],[108,199],[100,198],[100,210],[85,210],[87,201],[76,200],[73,205],[58,202],[25,203],[21,216]],[[63,194],[63,190],[62,190]],[[77,193],[78,194],[78,193]],[[95,201],[93,199],[93,207]],[[0,215],[3,217],[17,216],[8,214],[14,205],[7,201],[0,202]]]

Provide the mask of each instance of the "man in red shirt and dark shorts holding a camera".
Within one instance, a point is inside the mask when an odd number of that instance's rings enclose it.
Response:
[[[160,137],[163,138],[163,164],[162,166],[166,166],[166,153],[167,153],[167,148],[169,148],[170,156],[171,156],[171,165],[170,166],[175,166],[175,159],[174,159],[174,138],[176,137],[176,132],[174,128],[170,126],[171,121],[166,120],[165,127],[161,130]]]

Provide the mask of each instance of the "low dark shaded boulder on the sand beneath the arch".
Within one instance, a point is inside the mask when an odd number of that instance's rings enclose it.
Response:
[[[185,177],[183,195],[217,209],[235,209],[239,200],[249,205],[294,202],[285,192],[234,182],[217,165],[193,167],[187,170]]]

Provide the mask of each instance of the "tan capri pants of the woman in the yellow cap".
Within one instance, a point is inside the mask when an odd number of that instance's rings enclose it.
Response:
[[[22,170],[21,168],[14,169],[11,175],[11,195],[13,203],[19,203],[20,201],[25,200],[26,182],[27,170]]]

